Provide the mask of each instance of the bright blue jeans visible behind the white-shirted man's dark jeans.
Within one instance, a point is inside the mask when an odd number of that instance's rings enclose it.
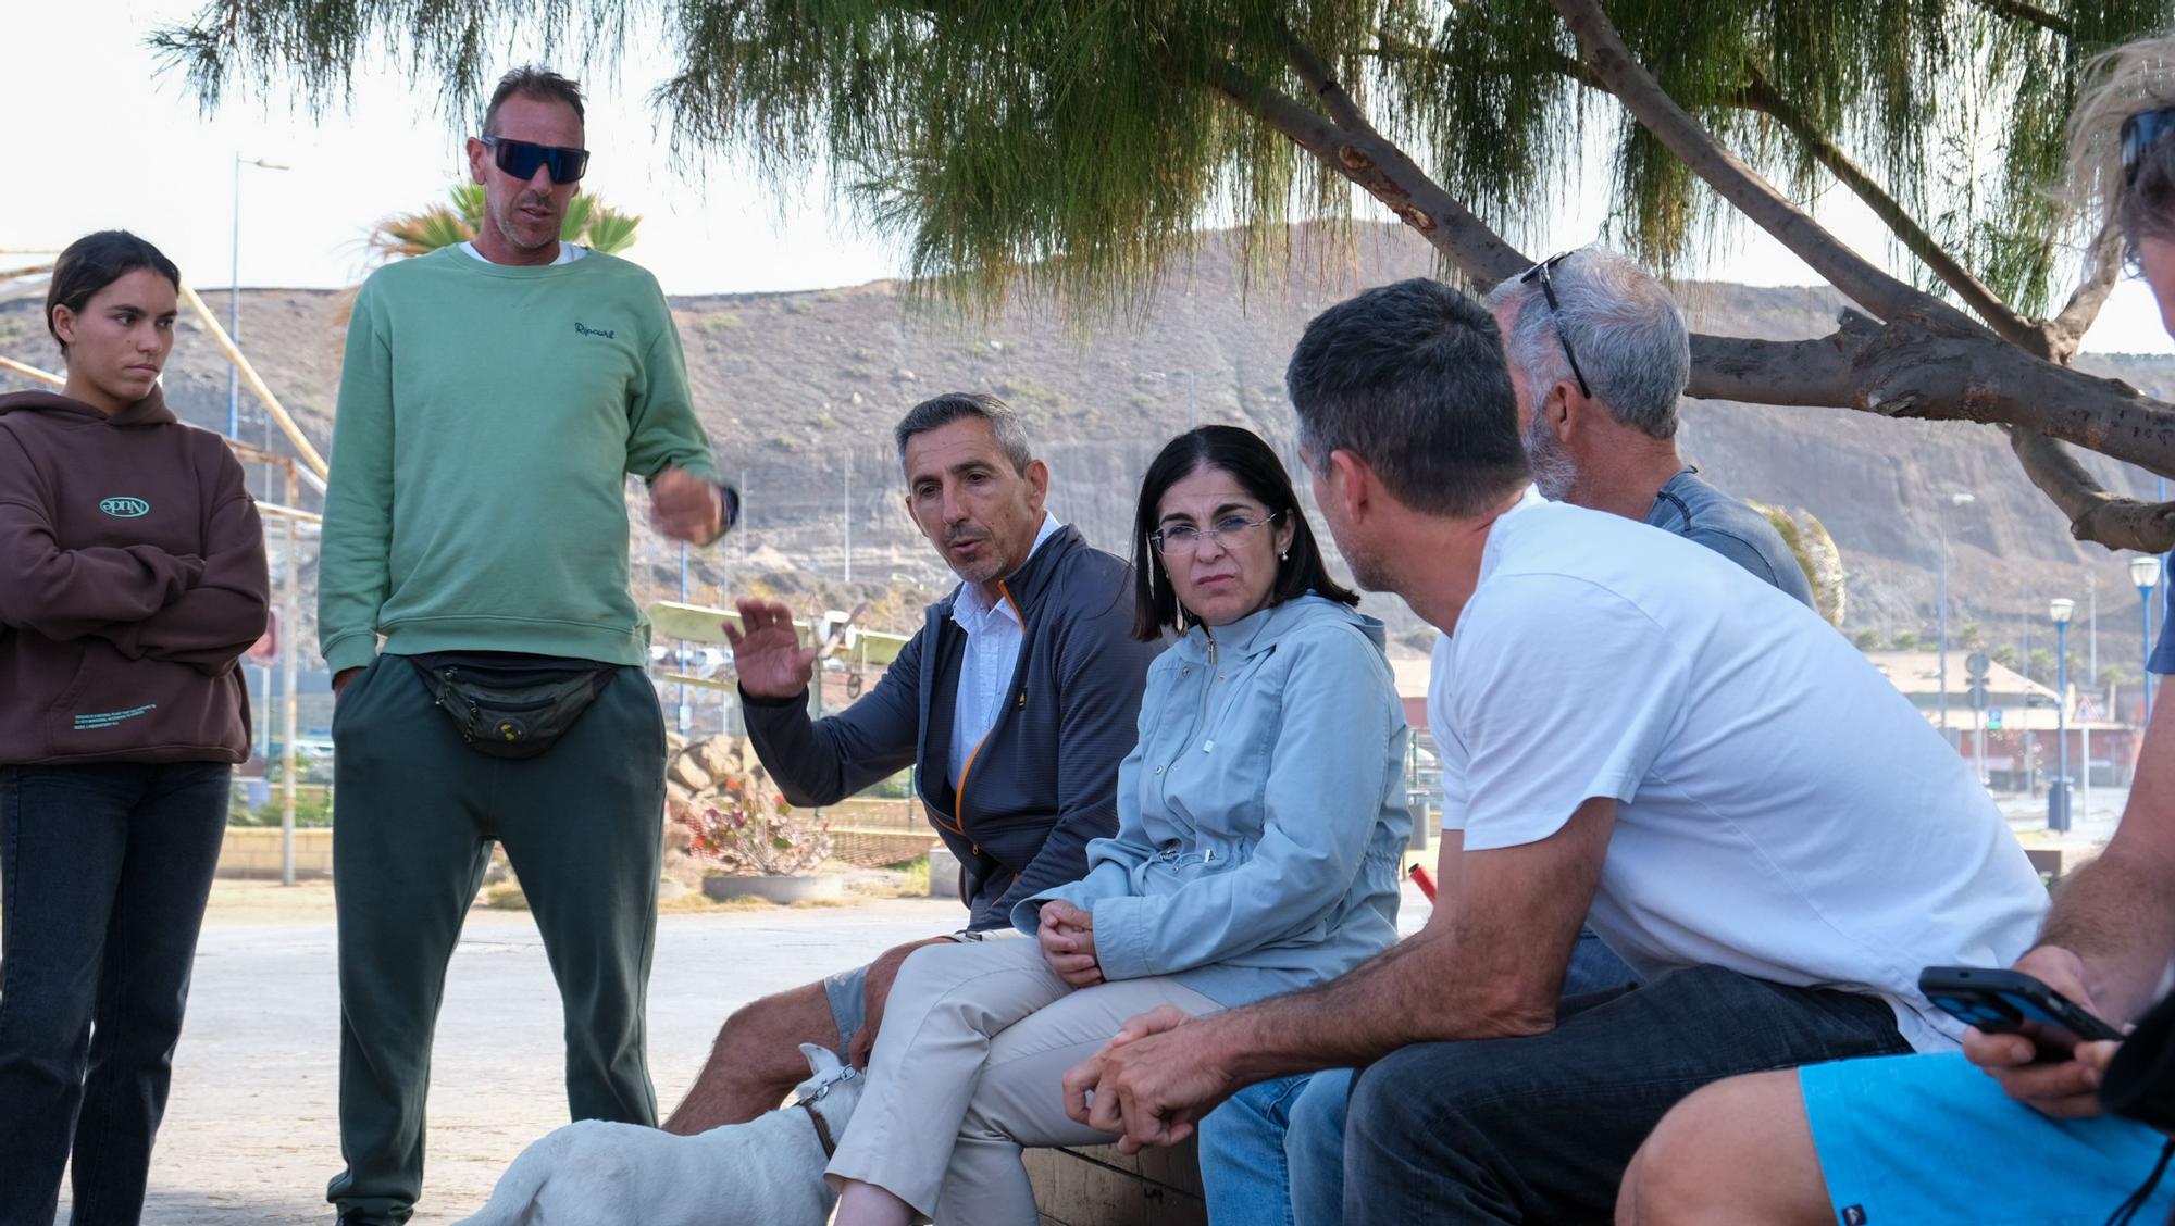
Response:
[[[1592,928],[1579,930],[1564,996],[1638,983]],[[1201,1122],[1201,1189],[1216,1224],[1338,1226],[1344,1219],[1344,1104],[1353,1069],[1248,1085]]]

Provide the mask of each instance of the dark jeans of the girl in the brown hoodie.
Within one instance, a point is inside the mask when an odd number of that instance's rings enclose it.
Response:
[[[231,770],[0,767],[0,1226],[141,1215]]]

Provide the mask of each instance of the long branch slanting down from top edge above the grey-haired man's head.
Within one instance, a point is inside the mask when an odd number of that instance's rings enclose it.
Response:
[[[1692,120],[1683,107],[1677,107],[1655,78],[1640,67],[1631,50],[1625,48],[1616,26],[1601,11],[1599,0],[1551,0],[1551,4],[1564,15],[1570,33],[1579,39],[1579,59],[1594,70],[1594,76],[1601,78],[1607,91],[1664,148],[1683,159],[1692,174],[1707,180],[1716,193],[1736,204],[1755,226],[1812,265],[1820,278],[1884,320],[1916,315],[1953,333],[1981,330],[1981,324],[1955,306],[1888,276],[1836,241],[1834,235],[1792,204],[1775,185],[1723,148],[1712,133]]]

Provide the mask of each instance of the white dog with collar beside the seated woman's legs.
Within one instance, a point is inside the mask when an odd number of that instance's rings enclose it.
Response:
[[[861,1102],[861,1074],[800,1043],[809,1080],[796,1102],[746,1124],[674,1137],[583,1119],[522,1150],[489,1204],[461,1226],[822,1226],[837,1137]]]

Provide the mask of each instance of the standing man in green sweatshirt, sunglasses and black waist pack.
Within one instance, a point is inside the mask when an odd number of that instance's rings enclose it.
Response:
[[[422,1193],[431,1030],[492,843],[559,980],[572,1115],[657,1122],[666,748],[624,478],[698,546],[737,500],[657,280],[559,241],[587,159],[581,89],[507,74],[468,141],[476,239],[372,274],[348,328],[318,574],[339,696],[344,1224],[407,1222]]]

